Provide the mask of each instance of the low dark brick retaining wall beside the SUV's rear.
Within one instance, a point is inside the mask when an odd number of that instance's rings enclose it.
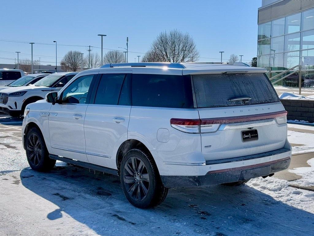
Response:
[[[287,120],[314,123],[314,100],[280,99],[280,101],[288,112]]]

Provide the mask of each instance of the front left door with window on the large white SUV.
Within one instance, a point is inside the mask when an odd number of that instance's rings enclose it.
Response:
[[[54,155],[88,162],[84,119],[96,76],[89,74],[78,77],[61,93],[60,103],[51,106],[49,132]]]

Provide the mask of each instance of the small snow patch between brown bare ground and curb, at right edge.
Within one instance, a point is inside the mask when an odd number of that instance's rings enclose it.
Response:
[[[302,185],[314,186],[314,158],[307,161],[310,167],[299,167],[288,170],[291,173],[302,176],[302,179],[298,179],[295,182]],[[314,196],[314,193],[313,193]]]

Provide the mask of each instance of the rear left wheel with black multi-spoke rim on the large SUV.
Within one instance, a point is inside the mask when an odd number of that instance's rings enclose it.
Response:
[[[124,195],[138,208],[157,206],[168,194],[153,157],[140,149],[131,149],[124,155],[120,180]]]

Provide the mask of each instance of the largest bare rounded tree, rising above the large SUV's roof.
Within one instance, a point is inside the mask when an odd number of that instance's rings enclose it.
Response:
[[[178,29],[161,32],[157,36],[148,53],[142,59],[157,62],[192,62],[197,61],[199,52],[196,44],[187,32]]]

